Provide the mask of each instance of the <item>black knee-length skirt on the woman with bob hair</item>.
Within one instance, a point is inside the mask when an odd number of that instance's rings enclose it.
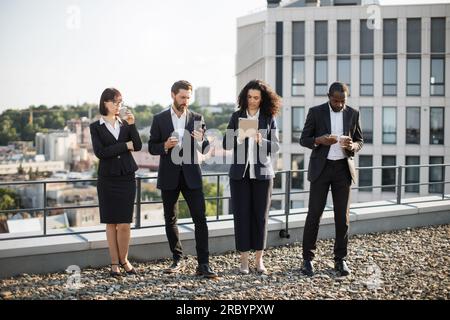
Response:
[[[97,194],[101,223],[131,223],[136,197],[134,173],[116,177],[99,176]]]

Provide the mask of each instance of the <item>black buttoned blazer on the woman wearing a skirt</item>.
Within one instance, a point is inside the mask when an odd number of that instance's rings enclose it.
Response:
[[[100,159],[98,164],[99,176],[127,175],[138,169],[126,144],[128,141],[133,141],[134,151],[142,149],[142,142],[136,125],[129,125],[125,120],[122,120],[118,140],[109,132],[106,124],[100,124],[100,120],[91,123],[89,128],[94,154]]]

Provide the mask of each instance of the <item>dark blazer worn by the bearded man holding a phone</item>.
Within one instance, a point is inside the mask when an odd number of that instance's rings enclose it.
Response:
[[[203,186],[197,150],[202,154],[208,153],[209,141],[205,138],[201,145],[199,145],[190,134],[194,130],[194,121],[198,122],[204,131],[206,131],[206,124],[201,114],[190,110],[186,110],[186,112],[186,131],[183,136],[182,146],[180,148],[177,145],[169,149],[167,153],[164,150],[164,143],[174,132],[170,108],[161,111],[153,118],[150,128],[150,139],[148,141],[148,151],[152,155],[161,156],[156,185],[158,189],[176,189],[181,172],[183,172],[190,189],[198,189]]]

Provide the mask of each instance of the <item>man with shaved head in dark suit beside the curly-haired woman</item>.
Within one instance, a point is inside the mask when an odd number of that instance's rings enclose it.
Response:
[[[308,168],[311,182],[308,215],[303,233],[303,268],[314,274],[312,260],[316,249],[320,218],[325,208],[328,190],[333,196],[336,239],[335,269],[341,276],[350,270],[347,256],[350,187],[356,182],[353,157],[363,146],[359,112],[346,105],[348,87],[335,82],[328,92],[329,102],[309,109],[300,144],[312,149]]]

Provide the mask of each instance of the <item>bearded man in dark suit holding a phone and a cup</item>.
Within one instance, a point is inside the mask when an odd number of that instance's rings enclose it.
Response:
[[[153,118],[148,142],[150,154],[161,156],[157,188],[161,189],[166,235],[173,254],[173,263],[165,272],[175,273],[182,267],[183,249],[175,212],[181,192],[195,225],[197,274],[214,278],[217,274],[209,266],[205,197],[197,156],[197,151],[206,154],[209,149],[204,135],[206,125],[202,115],[188,110],[192,94],[189,82],[175,82],[171,92],[173,104]]]

